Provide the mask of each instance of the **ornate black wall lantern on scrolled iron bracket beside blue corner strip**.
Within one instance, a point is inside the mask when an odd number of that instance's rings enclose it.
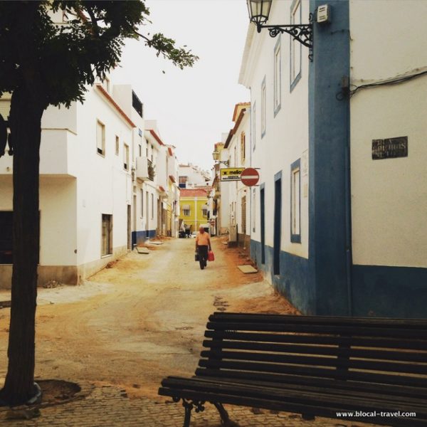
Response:
[[[310,49],[313,48],[313,26],[312,14],[310,14],[310,23],[295,23],[286,25],[264,25],[268,21],[270,15],[271,4],[273,0],[246,0],[248,3],[249,19],[255,23],[258,33],[262,28],[268,28],[271,37],[275,37],[280,33],[288,33],[295,40],[302,43]]]

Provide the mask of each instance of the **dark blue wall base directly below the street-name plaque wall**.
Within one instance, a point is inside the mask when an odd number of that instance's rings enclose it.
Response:
[[[427,268],[353,265],[353,315],[427,318]]]

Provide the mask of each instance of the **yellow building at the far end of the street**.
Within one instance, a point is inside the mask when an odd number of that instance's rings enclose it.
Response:
[[[179,196],[181,228],[198,231],[208,223],[208,194],[211,189],[181,189]]]

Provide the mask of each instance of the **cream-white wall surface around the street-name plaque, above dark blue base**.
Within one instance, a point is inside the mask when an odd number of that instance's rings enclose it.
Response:
[[[425,1],[396,1],[394,7],[374,1],[369,14],[359,1],[349,6],[353,85],[427,70]],[[386,19],[378,20],[384,8]],[[375,43],[366,31],[372,25]],[[401,28],[404,35],[392,28]],[[427,267],[426,87],[422,76],[359,90],[351,98],[355,264]],[[371,160],[372,139],[404,136],[408,157]]]

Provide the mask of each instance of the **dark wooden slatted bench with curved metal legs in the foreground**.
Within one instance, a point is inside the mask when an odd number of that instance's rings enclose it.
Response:
[[[195,376],[159,388],[182,399],[184,427],[205,402],[228,426],[223,404],[427,426],[427,320],[216,312],[205,337]]]

